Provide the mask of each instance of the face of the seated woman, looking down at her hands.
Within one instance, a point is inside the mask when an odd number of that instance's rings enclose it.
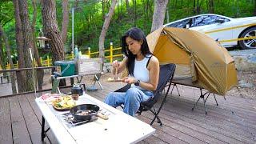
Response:
[[[142,50],[141,50],[142,42],[134,40],[133,38],[127,37],[126,44],[132,54],[138,55],[142,53]]]

